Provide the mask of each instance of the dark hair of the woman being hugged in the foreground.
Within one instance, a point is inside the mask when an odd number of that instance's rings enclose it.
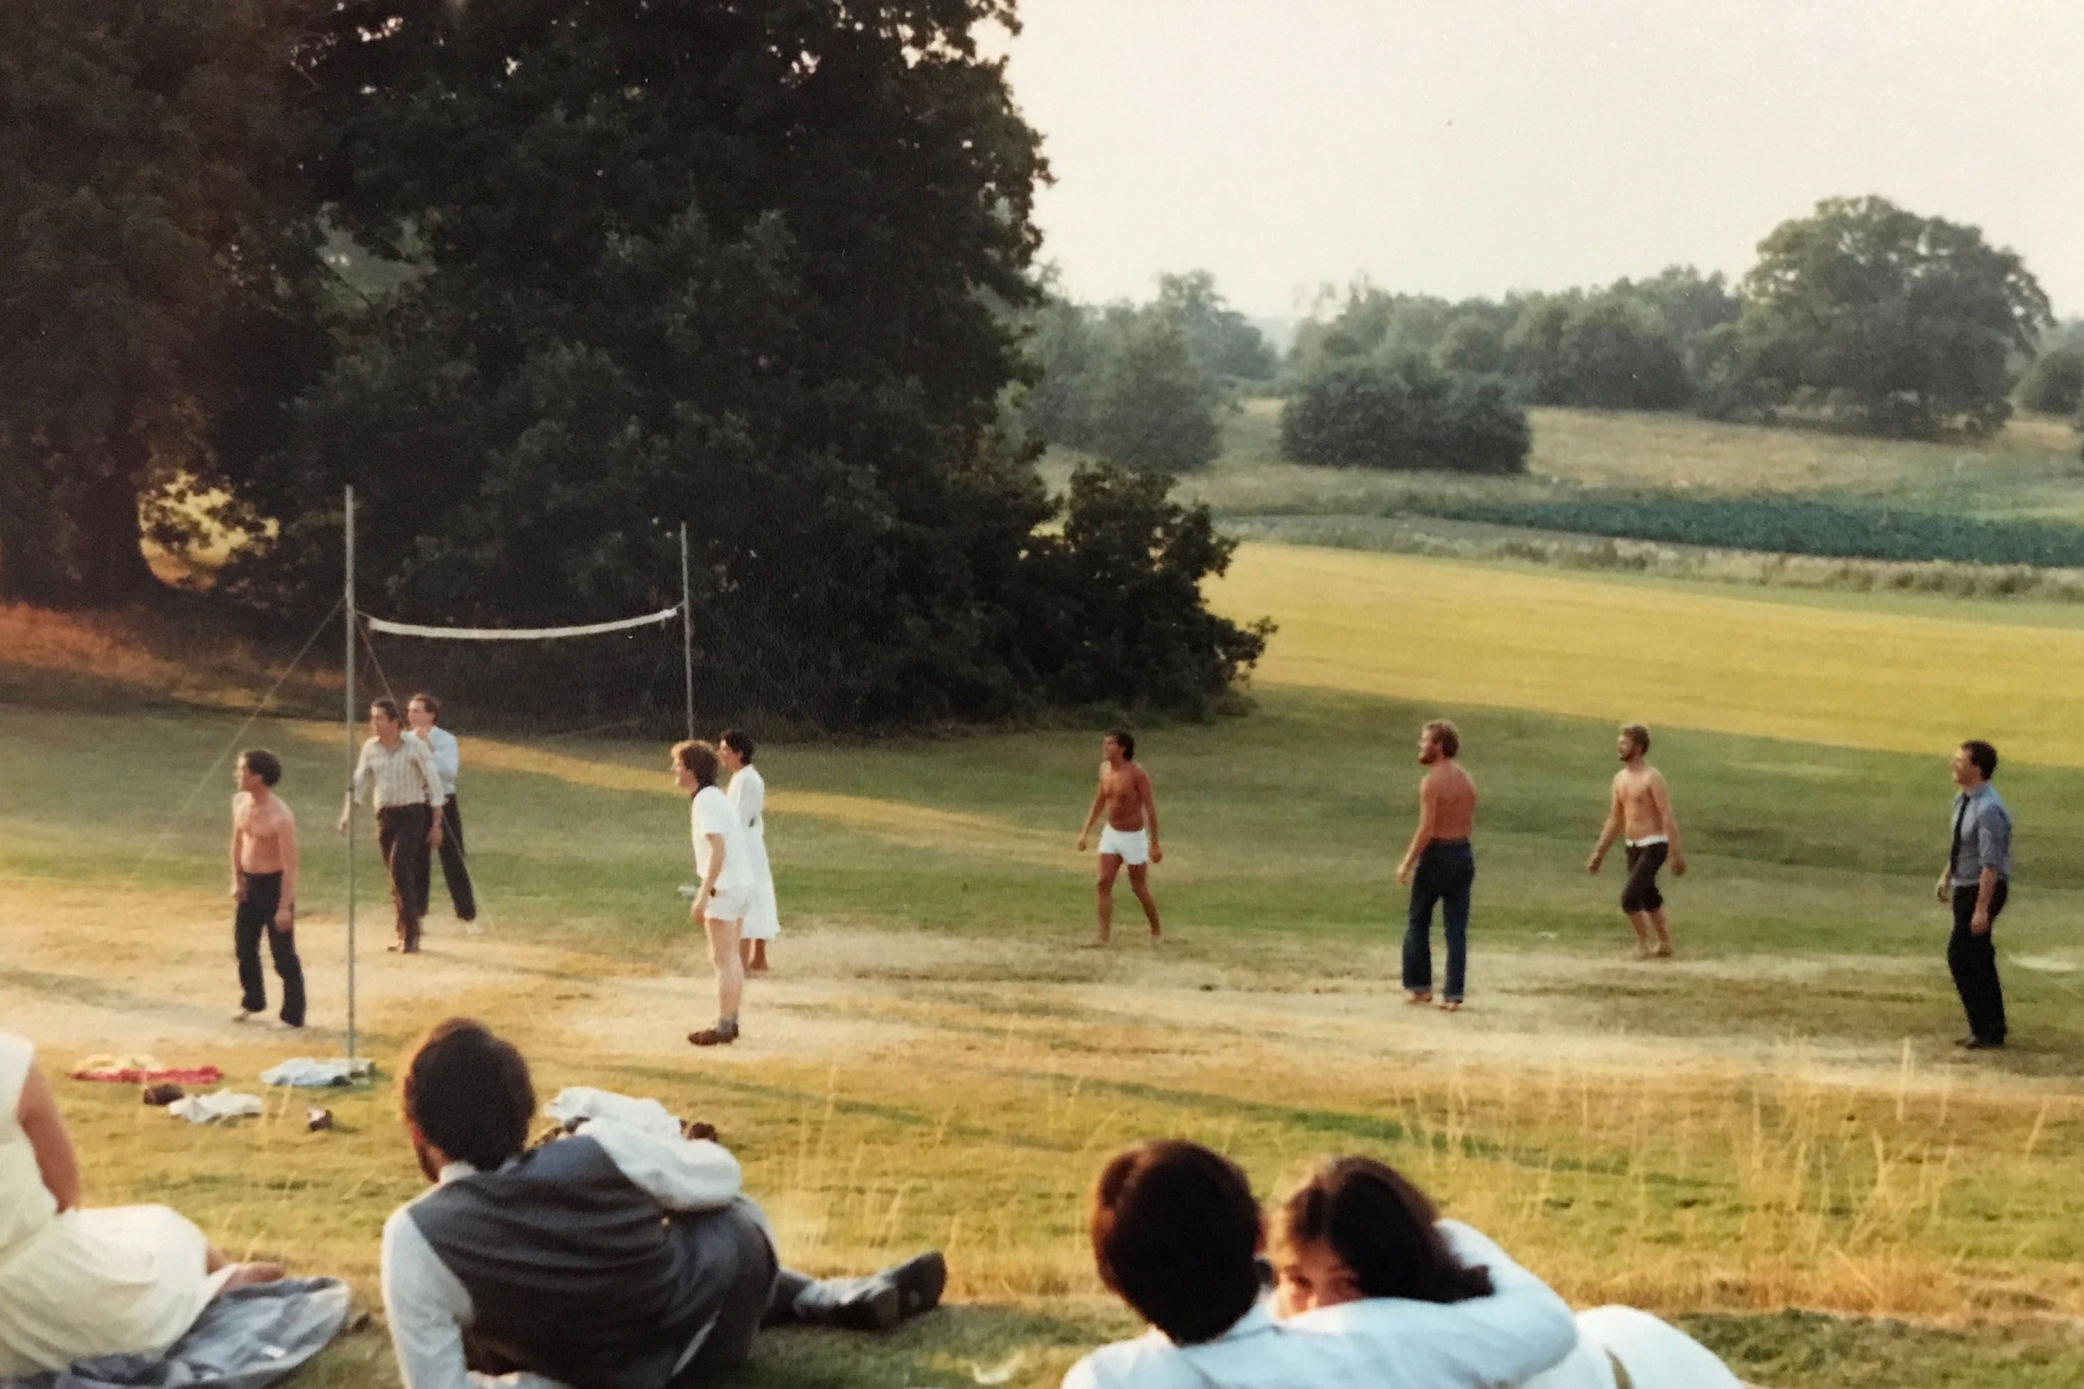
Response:
[[[1323,1241],[1363,1297],[1463,1302],[1490,1295],[1490,1272],[1465,1268],[1446,1247],[1425,1193],[1373,1158],[1334,1158],[1273,1214],[1273,1237],[1294,1247]]]

